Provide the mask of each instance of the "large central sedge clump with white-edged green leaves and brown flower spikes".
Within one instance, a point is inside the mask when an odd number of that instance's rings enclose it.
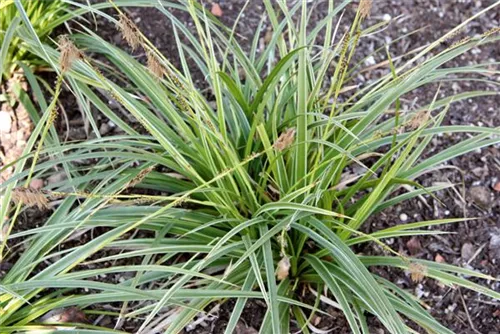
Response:
[[[399,102],[417,87],[456,73],[488,72],[488,64],[442,65],[473,47],[498,41],[498,36],[488,32],[435,51],[471,18],[407,62],[395,66],[390,61],[390,74],[341,99],[355,76],[357,44],[380,28],[363,26],[369,12],[366,1],[350,31],[339,32],[337,16],[348,3],[330,2],[325,18],[307,27],[307,2],[289,8],[266,0],[272,37],[258,52],[262,21],[250,52],[245,52],[234,29],[222,27],[194,1],[134,1],[134,6],[155,6],[172,23],[180,68],[119,10],[131,5],[128,1],[116,2],[119,21],[101,11],[113,4],[91,9],[116,23],[129,44],[145,52],[148,66],[85,27],[72,41],[61,39],[61,52],[40,43],[30,30],[19,30],[17,36],[30,52],[49,63],[61,60],[59,82],[64,78],[71,87],[97,138],[59,144],[50,130],[53,105],[43,101],[47,107],[27,154],[18,161],[16,175],[2,185],[0,214],[11,217],[5,222],[2,254],[13,256],[15,248],[7,249],[7,240],[23,240],[19,242],[25,250],[1,280],[0,331],[44,328],[49,325],[40,323],[40,316],[76,306],[88,314],[139,318],[139,332],[178,333],[200,312],[210,312],[209,306],[233,298],[236,304],[226,328],[233,333],[245,304],[255,298],[267,305],[261,333],[289,333],[291,319],[309,333],[312,316],[324,314],[320,301],[341,310],[353,333],[369,333],[368,314],[390,333],[413,332],[406,320],[431,333],[452,333],[416,297],[371,273],[370,266],[400,268],[416,281],[428,277],[500,299],[498,292],[464,278],[493,277],[408,258],[383,243],[388,237],[439,234],[428,227],[464,219],[361,232],[377,212],[453,186],[425,188],[418,184],[419,176],[453,157],[500,142],[498,128],[441,124],[453,102],[495,93],[474,91],[442,99],[436,94],[429,105],[409,112],[400,110]],[[171,9],[190,13],[196,32]],[[324,39],[316,45],[319,35]],[[114,69],[98,68],[100,63],[88,56],[91,52],[107,57]],[[206,78],[210,99],[194,85],[188,59]],[[109,108],[109,97],[142,125],[142,132]],[[91,107],[124,134],[101,138]],[[422,158],[432,138],[445,132],[473,136]],[[28,154],[38,135],[39,146]],[[32,168],[25,170],[32,157]],[[47,185],[43,192],[21,187],[31,177],[54,173],[56,162],[66,180]],[[348,178],[347,169],[356,164],[366,172]],[[407,191],[396,193],[403,186]],[[137,194],[136,189],[156,195]],[[60,201],[54,202],[43,226],[10,233],[21,203],[44,207],[48,198],[56,197]],[[18,202],[15,209],[9,209],[11,199]],[[92,229],[88,242],[65,244]],[[367,242],[378,243],[389,255],[356,254],[353,246]],[[120,275],[126,276],[113,278]],[[315,302],[303,299],[304,291]],[[119,303],[121,311],[102,308],[110,303]],[[113,332],[87,324],[61,326]]]

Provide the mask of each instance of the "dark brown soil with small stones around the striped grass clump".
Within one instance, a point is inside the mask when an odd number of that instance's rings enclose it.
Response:
[[[453,1],[390,1],[374,0],[372,14],[368,24],[381,20],[393,20],[388,28],[363,38],[356,54],[360,60],[374,50],[394,41],[396,38],[422,28],[419,32],[409,35],[390,46],[391,55],[402,55],[429,41],[441,37],[450,29],[460,24],[470,16],[483,10],[495,1],[453,2]],[[235,22],[243,0],[218,1],[223,12],[221,21],[229,27]],[[206,4],[206,6],[210,6]],[[325,2],[315,1],[315,10],[310,22],[317,22],[325,13]],[[347,7],[341,28],[347,29],[350,18],[355,12],[355,5]],[[162,13],[151,8],[129,8],[128,14],[136,22],[141,31],[174,63],[177,61],[177,50],[174,36]],[[240,38],[246,39],[248,44],[253,38],[264,5],[261,1],[250,1],[244,16],[240,20],[237,33]],[[111,13],[111,12],[110,12]],[[187,14],[175,12],[179,20],[190,26]],[[481,34],[488,29],[498,27],[500,12],[489,11],[460,32],[455,38]],[[102,37],[130,51],[128,45],[116,32],[114,26],[105,20],[98,19],[96,31]],[[264,38],[264,36],[262,36]],[[453,60],[446,66],[465,66],[478,63],[492,63],[499,60],[500,48],[498,45],[487,45],[481,49],[473,49],[469,53]],[[145,55],[135,53],[145,60]],[[358,76],[356,83],[365,82],[385,74],[386,66],[376,67],[386,60],[385,51],[369,57],[362,62],[363,67],[372,68]],[[493,64],[491,68],[498,70]],[[199,86],[203,86],[204,78],[201,74],[196,76]],[[489,78],[500,81],[498,74]],[[402,108],[418,108],[426,105],[437,92],[437,86],[426,86],[414,90],[402,100]],[[496,86],[480,82],[459,81],[444,83],[440,87],[440,96],[450,96],[472,90],[496,90]],[[67,99],[67,100],[64,100]],[[63,94],[63,105],[71,106],[75,101],[71,94]],[[452,104],[444,124],[446,125],[474,125],[474,126],[500,126],[500,95],[484,98],[469,99]],[[67,108],[69,129],[65,133],[69,139],[84,139],[89,136],[81,114],[77,108]],[[115,129],[107,126],[107,121],[102,120],[100,127],[103,135],[112,134]],[[59,124],[62,133],[66,131],[64,122]],[[436,152],[467,138],[464,135],[437,137],[431,143],[426,154]],[[388,208],[372,217],[365,224],[365,232],[372,232],[400,223],[416,222],[451,217],[476,217],[467,223],[454,223],[439,226],[440,230],[450,234],[429,237],[399,238],[388,240],[387,243],[396,251],[408,256],[443,261],[459,266],[478,270],[484,274],[500,278],[500,190],[495,190],[500,182],[500,146],[481,149],[455,158],[447,164],[447,168],[437,169],[431,174],[424,175],[419,181],[429,186],[438,182],[452,182],[459,186],[455,190],[446,190],[436,193],[436,198],[424,196],[421,199],[406,201],[401,205]],[[378,246],[368,245],[360,247],[359,253],[380,255],[385,251]],[[442,324],[456,333],[500,333],[500,304],[490,299],[465,289],[453,289],[441,286],[432,279],[424,278],[419,283],[414,283],[409,275],[400,270],[387,268],[371,268],[374,272],[385,277],[400,287],[412,290],[420,300],[428,305],[432,313]],[[500,283],[495,281],[475,280],[496,291],[500,291]],[[189,333],[223,333],[227,323],[233,301],[223,304],[211,321],[202,322]],[[332,330],[334,333],[349,333],[347,323],[343,316],[326,304],[322,309],[332,317],[322,317],[317,321],[316,327],[321,330]],[[258,329],[265,314],[265,304],[258,301],[249,301],[242,314],[239,333],[252,333]],[[385,333],[383,327],[374,318],[370,318],[370,330],[373,333]],[[293,328],[293,326],[292,326]],[[127,330],[133,331],[127,326]],[[422,331],[420,328],[416,328]],[[186,332],[187,329],[186,329]]]

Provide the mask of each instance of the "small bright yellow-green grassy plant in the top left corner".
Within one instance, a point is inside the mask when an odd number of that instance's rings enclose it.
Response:
[[[24,13],[20,14],[18,11],[19,5],[24,8]],[[30,66],[45,65],[45,62],[40,62],[39,57],[27,52],[18,37],[12,36],[21,21],[21,15],[29,19],[38,38],[45,42],[52,30],[61,24],[58,18],[65,14],[65,8],[66,4],[63,0],[3,0],[0,2],[0,45],[2,45],[0,69],[5,78],[11,77],[19,61]],[[4,47],[4,43],[5,46],[10,44],[10,47]]]

